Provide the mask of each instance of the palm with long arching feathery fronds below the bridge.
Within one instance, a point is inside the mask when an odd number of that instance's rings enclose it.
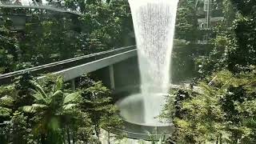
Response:
[[[62,143],[65,141],[62,130],[68,127],[70,124],[68,121],[78,116],[80,92],[64,93],[62,77],[57,78],[51,90],[40,86],[38,82],[31,81],[31,83],[34,103],[31,106],[22,106],[20,110],[34,114],[34,132],[40,134],[42,144]],[[69,131],[67,135],[70,143]]]

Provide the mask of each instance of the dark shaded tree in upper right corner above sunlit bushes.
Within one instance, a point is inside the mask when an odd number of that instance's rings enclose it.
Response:
[[[234,47],[227,55],[228,69],[234,72],[248,70],[250,65],[255,65],[255,26],[256,6],[253,1],[231,0],[238,10],[238,16],[234,21]]]

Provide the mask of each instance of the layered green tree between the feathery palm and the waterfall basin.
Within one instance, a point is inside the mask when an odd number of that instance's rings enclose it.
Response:
[[[82,89],[82,106],[83,110],[90,114],[94,133],[99,138],[102,128],[111,130],[120,126],[122,120],[118,116],[117,107],[112,103],[110,90],[103,86],[102,82],[91,81],[89,85]]]

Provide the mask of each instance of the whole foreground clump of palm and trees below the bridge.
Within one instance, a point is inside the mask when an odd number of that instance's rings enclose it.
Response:
[[[110,90],[86,75],[78,90],[62,77],[36,82],[23,74],[13,85],[0,87],[3,143],[94,143],[101,130],[122,126]]]

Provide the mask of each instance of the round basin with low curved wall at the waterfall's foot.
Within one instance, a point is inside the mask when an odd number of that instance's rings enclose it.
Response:
[[[152,106],[148,107],[150,110],[145,110],[144,98],[146,97],[142,94],[131,94],[116,102],[120,116],[125,121],[124,128],[118,129],[118,133],[125,134],[128,138],[146,140],[170,137],[173,131],[172,123],[162,122],[158,118],[167,94],[150,95],[150,102],[152,102]],[[151,111],[150,116],[145,113],[146,111]]]

